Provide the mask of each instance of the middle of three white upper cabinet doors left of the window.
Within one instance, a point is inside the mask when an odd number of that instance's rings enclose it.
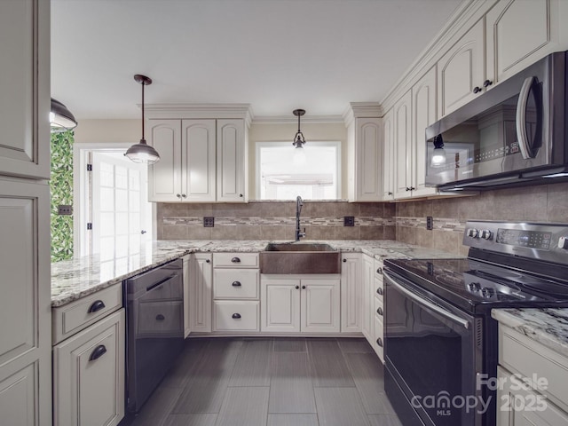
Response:
[[[182,122],[182,199],[215,201],[215,120]]]

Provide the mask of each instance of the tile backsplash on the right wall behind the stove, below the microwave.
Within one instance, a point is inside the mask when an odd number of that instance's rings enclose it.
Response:
[[[568,183],[499,189],[471,197],[397,203],[397,240],[467,255],[468,220],[568,223]],[[434,229],[426,230],[426,217]]]

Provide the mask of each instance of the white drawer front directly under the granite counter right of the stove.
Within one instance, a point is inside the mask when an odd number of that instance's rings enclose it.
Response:
[[[499,364],[528,378],[545,378],[536,391],[568,411],[568,359],[509,327],[499,327]]]

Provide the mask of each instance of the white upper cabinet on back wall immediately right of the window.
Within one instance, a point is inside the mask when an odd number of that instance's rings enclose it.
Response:
[[[381,119],[355,117],[347,129],[349,201],[381,201],[383,193]]]

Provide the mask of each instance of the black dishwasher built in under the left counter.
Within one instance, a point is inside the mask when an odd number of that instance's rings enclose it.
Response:
[[[124,281],[126,409],[138,413],[184,345],[183,261]]]

